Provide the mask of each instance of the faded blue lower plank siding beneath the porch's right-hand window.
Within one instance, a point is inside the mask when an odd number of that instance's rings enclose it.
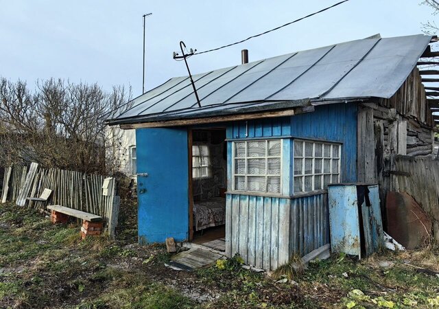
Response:
[[[329,243],[328,194],[293,198],[289,212],[289,254],[305,255]]]

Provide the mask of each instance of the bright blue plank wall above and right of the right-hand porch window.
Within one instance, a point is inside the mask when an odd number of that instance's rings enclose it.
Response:
[[[313,113],[292,116],[291,135],[341,141],[342,182],[357,181],[357,104],[316,106]]]

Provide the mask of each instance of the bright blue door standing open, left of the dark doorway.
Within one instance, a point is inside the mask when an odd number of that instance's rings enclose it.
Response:
[[[139,243],[186,240],[189,231],[187,128],[136,130]],[[143,192],[143,190],[146,190]]]

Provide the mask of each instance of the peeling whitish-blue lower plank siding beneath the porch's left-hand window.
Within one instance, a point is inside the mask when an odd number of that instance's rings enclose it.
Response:
[[[276,269],[289,258],[289,198],[228,194],[226,255],[246,264]]]

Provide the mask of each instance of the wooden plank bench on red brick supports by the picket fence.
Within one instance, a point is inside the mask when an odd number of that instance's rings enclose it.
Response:
[[[100,235],[102,233],[104,220],[102,216],[89,214],[85,211],[80,211],[61,205],[49,205],[47,206],[47,209],[51,210],[50,218],[51,222],[54,224],[67,223],[69,216],[82,219],[82,227],[80,231],[82,239],[84,239],[86,236]]]

